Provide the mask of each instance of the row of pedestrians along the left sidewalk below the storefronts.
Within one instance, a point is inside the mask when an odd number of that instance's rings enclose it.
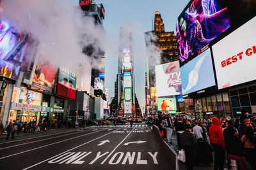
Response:
[[[91,125],[91,120],[79,120],[78,126],[84,127]],[[21,133],[34,133],[34,132],[46,132],[47,130],[57,130],[62,128],[72,128],[76,127],[76,122],[71,120],[61,120],[61,121],[51,121],[51,122],[38,122],[36,124],[35,121],[31,122],[6,122],[3,126],[3,123],[0,124],[0,132],[1,134],[6,134],[6,140],[10,138],[14,139],[15,134]]]

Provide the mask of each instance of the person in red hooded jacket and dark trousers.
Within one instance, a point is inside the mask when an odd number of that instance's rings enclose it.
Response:
[[[225,162],[225,144],[223,131],[220,127],[219,118],[212,118],[212,125],[210,127],[210,141],[214,149],[214,170],[223,170]]]

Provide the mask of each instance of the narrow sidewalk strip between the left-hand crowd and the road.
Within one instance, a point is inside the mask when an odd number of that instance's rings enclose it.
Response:
[[[45,134],[55,134],[55,133],[59,133],[59,132],[70,132],[70,131],[77,131],[77,129],[80,129],[83,127],[78,127],[78,128],[68,128],[68,127],[64,127],[62,129],[48,129],[47,132],[28,132],[28,133],[20,133],[17,134],[15,133],[15,139],[24,139],[24,138],[31,138],[31,137],[35,137],[35,136],[44,136]],[[10,138],[8,141],[13,141],[15,139],[12,139],[12,134],[10,134]],[[5,142],[6,140],[6,134],[0,134],[0,143]]]

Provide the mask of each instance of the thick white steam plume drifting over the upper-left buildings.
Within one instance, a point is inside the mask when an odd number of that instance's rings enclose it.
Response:
[[[74,6],[70,0],[2,0],[0,20],[10,21],[19,31],[38,40],[40,56],[54,64],[78,66],[89,62],[97,67],[95,59],[82,50],[88,45],[104,50],[105,32],[93,18],[84,17],[78,2]]]

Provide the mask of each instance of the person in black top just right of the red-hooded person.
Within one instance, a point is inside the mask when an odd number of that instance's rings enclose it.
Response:
[[[241,139],[239,138],[238,131],[233,127],[233,125],[231,125],[232,123],[229,122],[228,128],[223,132],[228,159],[236,160],[239,169],[247,169],[244,157],[245,149]]]

